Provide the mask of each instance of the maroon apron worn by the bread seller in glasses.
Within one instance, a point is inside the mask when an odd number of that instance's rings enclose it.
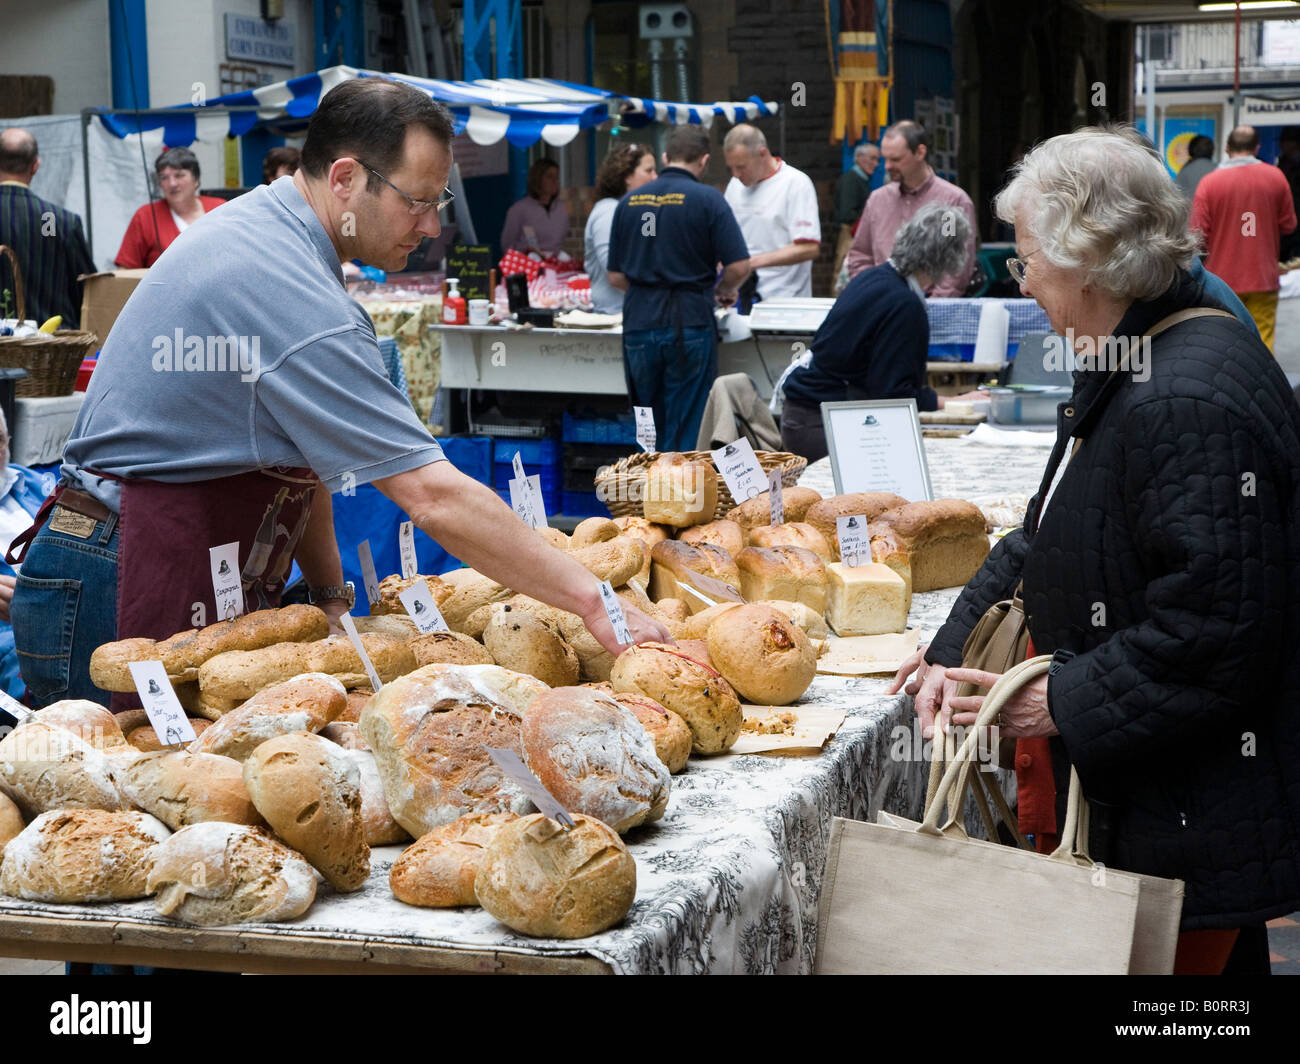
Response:
[[[190,484],[124,480],[117,637],[162,640],[218,622],[208,549],[231,541],[239,542],[244,610],[278,606],[318,484],[309,468]],[[127,705],[138,705],[134,693],[113,696],[114,712]]]

